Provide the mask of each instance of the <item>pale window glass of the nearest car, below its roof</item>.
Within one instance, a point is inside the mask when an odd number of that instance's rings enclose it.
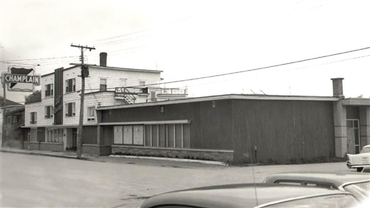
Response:
[[[336,208],[347,208],[347,207],[356,207],[358,201],[349,194],[336,194],[330,196],[316,196],[310,198],[301,198],[297,200],[290,200],[282,203],[277,203],[274,205],[268,205],[266,207],[297,207],[297,208],[306,208],[306,207],[336,207]],[[263,206],[262,206],[263,207]]]

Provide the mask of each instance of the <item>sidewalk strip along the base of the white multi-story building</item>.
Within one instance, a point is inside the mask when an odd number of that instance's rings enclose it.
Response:
[[[27,155],[44,155],[44,156],[51,156],[51,157],[64,157],[64,158],[70,158],[70,159],[77,159],[77,153],[75,152],[38,151],[38,150],[11,148],[11,147],[5,147],[5,146],[2,146],[0,148],[0,152],[18,153],[18,154],[27,154]],[[97,156],[95,155],[83,154],[81,159],[94,160],[95,158],[97,158]]]

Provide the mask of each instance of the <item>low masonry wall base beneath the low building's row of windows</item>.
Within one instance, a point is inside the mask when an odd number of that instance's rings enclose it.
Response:
[[[186,159],[204,159],[214,161],[233,161],[234,151],[223,150],[197,150],[183,148],[149,148],[138,146],[119,146],[112,145],[112,154],[114,155],[137,155],[152,157],[172,157]]]

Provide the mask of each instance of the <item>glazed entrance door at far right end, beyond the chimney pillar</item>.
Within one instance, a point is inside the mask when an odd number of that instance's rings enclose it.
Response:
[[[360,127],[358,119],[347,119],[347,152],[360,153]]]

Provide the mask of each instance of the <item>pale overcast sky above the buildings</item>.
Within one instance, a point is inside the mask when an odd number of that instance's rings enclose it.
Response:
[[[79,62],[71,44],[81,44],[95,47],[88,64],[106,52],[108,66],[162,70],[162,87],[189,96],[332,96],[330,79],[343,77],[346,97],[369,98],[369,8],[366,0],[1,0],[1,73],[67,68]],[[364,50],[248,71],[356,49]],[[6,96],[24,102],[25,94]]]

